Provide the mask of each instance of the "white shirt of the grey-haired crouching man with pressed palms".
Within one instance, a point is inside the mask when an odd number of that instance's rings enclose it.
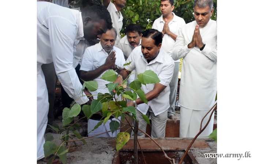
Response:
[[[115,46],[112,48],[110,53],[112,51],[116,52],[116,62],[115,62],[115,64],[118,67],[123,68],[123,65],[125,63],[123,52]],[[106,62],[107,57],[108,57],[108,52],[106,52],[102,48],[100,42],[95,44],[94,46],[88,47],[85,50],[85,54],[83,56],[82,65],[80,67],[80,70],[83,70],[83,71],[95,70],[95,69],[99,68],[100,66],[102,66]],[[108,71],[108,70],[106,70],[106,71]],[[98,90],[91,92],[91,94],[109,93],[109,90],[105,85],[110,83],[110,82],[101,79],[102,75],[106,71],[104,71],[101,75],[99,75],[99,77],[97,77],[93,80],[93,81],[96,81],[98,83]],[[94,95],[93,98],[97,99],[97,95]]]

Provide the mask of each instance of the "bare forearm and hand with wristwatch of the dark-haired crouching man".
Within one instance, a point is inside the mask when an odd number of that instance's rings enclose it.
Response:
[[[165,89],[165,87],[166,86],[162,85],[161,83],[155,83],[154,89],[146,94],[147,101],[150,101],[150,100],[158,97],[159,94]],[[137,105],[144,103],[144,101],[142,101],[140,98],[137,98],[135,101],[136,101]],[[134,106],[134,104],[131,101],[131,102],[127,103],[127,106]]]

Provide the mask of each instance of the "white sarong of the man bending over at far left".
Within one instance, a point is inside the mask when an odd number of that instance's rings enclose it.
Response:
[[[41,66],[37,68],[37,160],[44,157],[45,129],[48,122],[48,92]]]

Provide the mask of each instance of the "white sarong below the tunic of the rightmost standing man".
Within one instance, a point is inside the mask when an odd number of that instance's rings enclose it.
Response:
[[[180,137],[194,138],[200,130],[200,124],[203,117],[209,110],[193,110],[180,106]],[[204,118],[202,129],[208,122],[211,112]],[[213,131],[214,114],[206,129],[199,135],[199,137],[209,136]]]

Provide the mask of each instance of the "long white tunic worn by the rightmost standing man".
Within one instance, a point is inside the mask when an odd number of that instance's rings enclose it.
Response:
[[[211,20],[205,27],[199,27],[203,51],[195,46],[188,48],[196,21],[186,24],[179,32],[174,44],[174,60],[183,57],[180,83],[181,106],[194,110],[210,110],[217,92],[217,25]]]

